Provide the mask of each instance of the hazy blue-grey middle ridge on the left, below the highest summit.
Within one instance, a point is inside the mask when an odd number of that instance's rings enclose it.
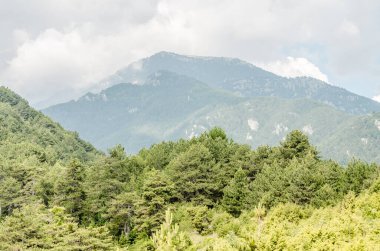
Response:
[[[122,143],[136,152],[162,139],[177,138],[177,127],[189,114],[240,99],[196,79],[158,71],[143,85],[117,84],[43,112],[101,149]]]

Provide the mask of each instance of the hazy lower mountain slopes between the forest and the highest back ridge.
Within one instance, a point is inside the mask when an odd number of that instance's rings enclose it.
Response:
[[[356,115],[307,98],[242,97],[169,71],[152,73],[138,84],[88,93],[43,112],[103,150],[120,143],[134,153],[214,126],[239,143],[257,147],[277,144],[300,129],[326,158],[380,161],[379,114]]]

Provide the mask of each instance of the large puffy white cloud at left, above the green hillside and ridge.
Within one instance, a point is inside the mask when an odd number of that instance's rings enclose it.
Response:
[[[107,50],[109,45],[106,38],[94,41],[78,30],[48,29],[18,47],[1,77],[34,103],[51,98],[63,101],[123,65],[113,55],[115,51]]]

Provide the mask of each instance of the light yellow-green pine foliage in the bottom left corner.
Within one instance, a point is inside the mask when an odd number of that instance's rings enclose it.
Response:
[[[1,250],[112,250],[105,227],[79,227],[62,207],[33,203],[0,224]]]

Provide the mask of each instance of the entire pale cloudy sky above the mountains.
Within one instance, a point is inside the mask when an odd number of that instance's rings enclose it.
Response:
[[[380,102],[377,0],[0,0],[0,85],[43,108],[159,51],[240,58]]]

